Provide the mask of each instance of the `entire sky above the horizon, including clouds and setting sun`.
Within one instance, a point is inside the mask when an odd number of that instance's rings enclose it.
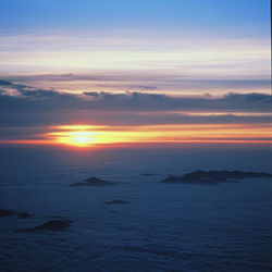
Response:
[[[271,145],[269,0],[3,0],[0,144]]]

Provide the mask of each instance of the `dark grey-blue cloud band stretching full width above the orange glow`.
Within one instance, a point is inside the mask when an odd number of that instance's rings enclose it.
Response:
[[[11,95],[11,90],[16,90],[18,95]],[[267,123],[270,121],[270,110],[271,96],[265,94],[173,97],[146,92],[89,91],[78,96],[0,81],[0,124],[4,126],[62,123]],[[203,112],[207,114],[203,115]],[[252,114],[236,115],[237,112]]]

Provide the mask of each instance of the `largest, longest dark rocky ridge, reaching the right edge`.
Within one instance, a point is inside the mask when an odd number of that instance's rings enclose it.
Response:
[[[269,173],[243,171],[195,171],[182,176],[170,176],[163,183],[183,183],[200,185],[218,185],[219,183],[237,183],[248,177],[272,177]]]

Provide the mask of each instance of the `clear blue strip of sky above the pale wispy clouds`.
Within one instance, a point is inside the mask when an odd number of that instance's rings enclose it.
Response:
[[[269,0],[4,0],[1,28],[244,28],[268,35]],[[251,28],[251,30],[250,30]],[[262,30],[261,30],[262,29]]]

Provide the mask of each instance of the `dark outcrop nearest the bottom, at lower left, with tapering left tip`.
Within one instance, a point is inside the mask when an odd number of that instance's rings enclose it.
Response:
[[[37,225],[32,228],[18,228],[15,230],[15,233],[32,233],[37,231],[62,231],[71,225],[69,220],[50,220],[41,225]]]

